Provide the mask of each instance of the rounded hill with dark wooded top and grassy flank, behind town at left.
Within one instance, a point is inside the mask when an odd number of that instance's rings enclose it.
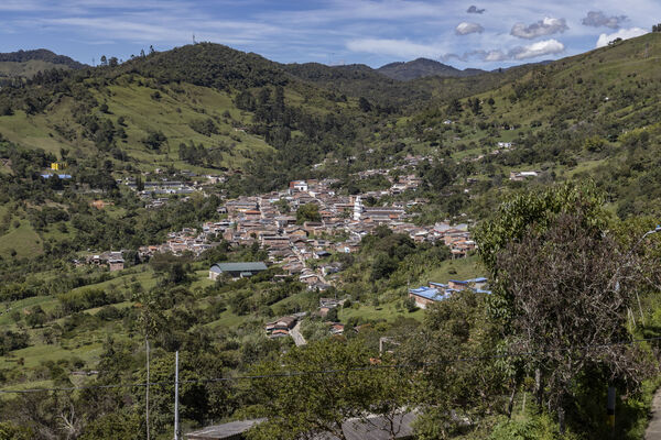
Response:
[[[4,87],[0,133],[56,156],[66,150],[79,160],[109,161],[116,173],[250,165],[257,179],[249,188],[267,189],[267,182],[282,185],[328,154],[367,150],[373,128],[387,119],[443,100],[446,91],[469,95],[472,87],[397,81],[367,66],[281,65],[201,43],[126,63],[110,57],[99,67],[44,70]]]

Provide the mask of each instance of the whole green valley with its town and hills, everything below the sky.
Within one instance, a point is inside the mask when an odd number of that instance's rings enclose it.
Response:
[[[175,352],[185,432],[588,439],[613,383],[642,436],[661,33],[494,72],[64,58],[0,56],[0,438],[172,438]]]

